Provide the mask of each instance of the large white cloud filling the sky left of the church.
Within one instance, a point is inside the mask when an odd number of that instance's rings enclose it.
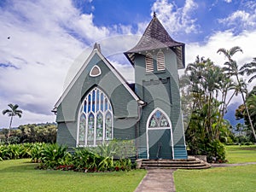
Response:
[[[108,39],[131,34],[131,26],[95,26],[93,15],[81,14],[70,0],[9,2],[0,9],[0,26],[0,109],[17,103],[24,111],[14,125],[55,119],[50,110],[78,71],[74,65],[80,54],[85,60],[90,53],[91,48],[85,47],[102,43],[108,56],[135,44],[131,36]],[[8,125],[9,120],[0,115],[0,128]]]

